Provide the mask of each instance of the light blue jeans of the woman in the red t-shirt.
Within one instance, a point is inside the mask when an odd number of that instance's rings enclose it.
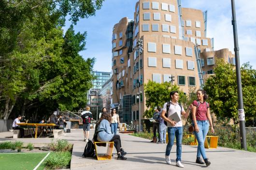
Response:
[[[205,137],[209,131],[209,122],[208,120],[197,120],[199,132],[194,131],[194,134],[197,137],[198,140],[198,153],[197,157],[203,157],[203,159],[206,159],[205,149],[204,149],[204,141]],[[193,124],[194,125],[194,124]]]

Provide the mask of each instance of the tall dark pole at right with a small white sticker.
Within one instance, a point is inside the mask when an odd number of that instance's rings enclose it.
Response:
[[[242,100],[242,80],[241,80],[241,72],[240,72],[239,47],[238,47],[238,38],[237,38],[236,9],[235,9],[235,1],[234,0],[231,0],[231,7],[232,7],[232,25],[233,25],[233,34],[234,34],[234,47],[235,47],[234,51],[235,51],[235,59],[236,59],[240,142],[241,142],[242,149],[247,151],[246,131],[245,131],[245,115],[244,115],[243,100]]]

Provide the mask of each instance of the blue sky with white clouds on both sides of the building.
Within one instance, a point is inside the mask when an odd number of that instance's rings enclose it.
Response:
[[[80,19],[75,32],[87,32],[83,58],[96,58],[94,70],[111,71],[112,31],[123,17],[134,19],[138,0],[105,0],[95,16]],[[207,10],[207,38],[214,38],[214,50],[228,48],[234,53],[231,0],[181,0],[182,7]],[[256,0],[235,0],[240,64],[250,62],[256,69]],[[67,21],[64,32],[71,22]]]

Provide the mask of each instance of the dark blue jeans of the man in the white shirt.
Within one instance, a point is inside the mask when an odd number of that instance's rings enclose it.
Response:
[[[174,136],[176,137],[176,162],[181,161],[181,142],[182,142],[182,134],[183,134],[183,129],[182,127],[168,127],[168,144],[166,146],[166,151],[165,155],[169,156],[171,152],[171,147],[174,144]]]

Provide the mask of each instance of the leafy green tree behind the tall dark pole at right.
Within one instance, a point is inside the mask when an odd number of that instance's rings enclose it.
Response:
[[[249,63],[241,67],[243,104],[246,120],[256,117],[256,70]],[[214,75],[204,85],[211,110],[217,117],[238,123],[238,94],[234,65],[217,60]]]

